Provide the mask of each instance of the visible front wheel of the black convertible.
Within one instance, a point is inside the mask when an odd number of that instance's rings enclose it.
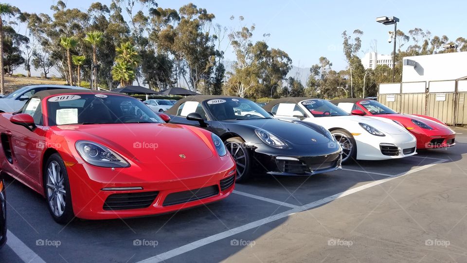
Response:
[[[225,148],[230,152],[237,165],[237,176],[235,181],[243,183],[251,178],[251,153],[245,147],[245,141],[240,137],[233,137],[227,139]]]

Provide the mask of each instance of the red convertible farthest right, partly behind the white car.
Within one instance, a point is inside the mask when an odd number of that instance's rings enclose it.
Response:
[[[397,113],[373,99],[344,98],[331,101],[354,115],[390,119],[405,127],[417,138],[417,149],[447,148],[455,145],[456,132],[440,120],[417,114]]]

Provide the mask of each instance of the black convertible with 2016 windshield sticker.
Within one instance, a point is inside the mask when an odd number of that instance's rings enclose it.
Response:
[[[237,182],[255,169],[272,175],[312,175],[341,169],[341,147],[323,127],[274,119],[251,100],[195,95],[165,113],[171,123],[216,133],[237,164]]]

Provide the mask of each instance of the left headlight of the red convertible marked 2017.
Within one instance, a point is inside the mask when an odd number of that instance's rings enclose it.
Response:
[[[122,156],[95,142],[77,141],[76,150],[91,165],[109,168],[125,168],[130,166]]]

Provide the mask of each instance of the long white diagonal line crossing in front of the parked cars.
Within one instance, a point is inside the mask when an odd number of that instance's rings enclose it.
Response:
[[[302,211],[311,209],[313,207],[321,206],[323,204],[329,203],[329,202],[331,202],[333,200],[336,200],[336,199],[339,199],[341,197],[344,197],[344,196],[347,196],[347,195],[350,195],[350,194],[365,190],[367,188],[371,188],[371,187],[374,187],[374,186],[377,186],[377,185],[392,181],[392,180],[394,180],[396,178],[406,176],[406,175],[411,174],[413,172],[420,171],[420,170],[427,169],[427,168],[431,168],[432,166],[443,163],[443,162],[445,162],[445,161],[439,160],[439,161],[436,161],[436,162],[434,162],[432,164],[421,166],[421,167],[419,167],[417,169],[413,169],[413,170],[409,170],[409,171],[404,172],[404,173],[392,175],[392,176],[390,176],[388,178],[385,178],[385,179],[382,179],[382,180],[373,181],[373,182],[368,183],[366,185],[362,185],[362,186],[359,186],[359,187],[356,187],[356,188],[352,188],[352,189],[337,193],[335,195],[331,195],[331,196],[328,196],[326,198],[320,199],[318,201],[308,203],[308,204],[306,204],[304,206],[296,207],[296,208],[290,209],[288,211],[285,211],[285,212],[282,212],[282,213],[279,213],[279,214],[269,216],[267,218],[263,218],[263,219],[251,222],[249,224],[241,225],[241,226],[232,228],[230,230],[227,230],[227,231],[224,231],[224,232],[209,236],[207,238],[200,239],[200,240],[192,242],[190,244],[182,245],[180,247],[174,248],[172,250],[169,250],[169,251],[164,252],[162,254],[159,254],[157,256],[142,260],[139,263],[158,263],[158,262],[162,262],[162,261],[171,259],[173,257],[179,256],[179,255],[181,255],[183,253],[189,252],[191,250],[197,249],[198,247],[201,247],[201,246],[204,246],[204,245],[207,245],[207,244],[211,244],[211,243],[214,243],[214,242],[219,241],[221,239],[228,238],[228,237],[231,237],[233,235],[245,232],[245,231],[250,230],[252,228],[259,227],[261,225],[265,225],[265,224],[274,222],[276,220],[288,217],[288,216],[290,216],[290,215],[292,215],[294,213],[302,212]]]

